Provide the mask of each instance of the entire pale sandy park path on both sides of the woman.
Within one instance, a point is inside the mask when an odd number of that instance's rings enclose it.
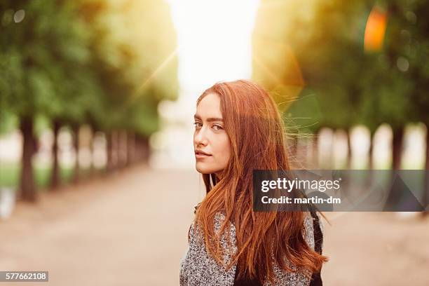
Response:
[[[18,204],[0,222],[0,270],[49,271],[25,285],[178,285],[194,170],[140,165]],[[325,223],[325,285],[429,285],[429,220],[334,213]],[[18,285],[0,282],[0,285]]]

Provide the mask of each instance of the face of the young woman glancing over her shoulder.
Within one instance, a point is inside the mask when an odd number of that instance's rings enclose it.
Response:
[[[205,95],[197,106],[193,149],[196,158],[196,170],[201,174],[220,172],[226,168],[231,156],[231,144],[224,129],[220,109],[220,97],[217,93]]]

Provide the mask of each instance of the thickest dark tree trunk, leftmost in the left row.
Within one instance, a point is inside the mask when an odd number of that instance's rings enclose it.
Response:
[[[34,185],[34,172],[32,158],[36,151],[36,139],[33,134],[33,118],[25,116],[21,118],[20,130],[22,133],[22,163],[20,178],[20,198],[25,201],[35,202],[36,186]]]

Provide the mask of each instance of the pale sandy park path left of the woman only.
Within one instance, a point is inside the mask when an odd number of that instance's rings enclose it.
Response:
[[[198,189],[196,172],[138,166],[20,204],[0,224],[0,269],[49,271],[49,285],[177,285]]]

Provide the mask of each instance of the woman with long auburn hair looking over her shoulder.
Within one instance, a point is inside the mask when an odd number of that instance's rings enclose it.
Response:
[[[290,170],[273,99],[250,81],[216,83],[194,118],[207,195],[189,229],[180,285],[321,285],[327,257],[315,251],[320,225],[310,212],[252,210],[252,171]]]

